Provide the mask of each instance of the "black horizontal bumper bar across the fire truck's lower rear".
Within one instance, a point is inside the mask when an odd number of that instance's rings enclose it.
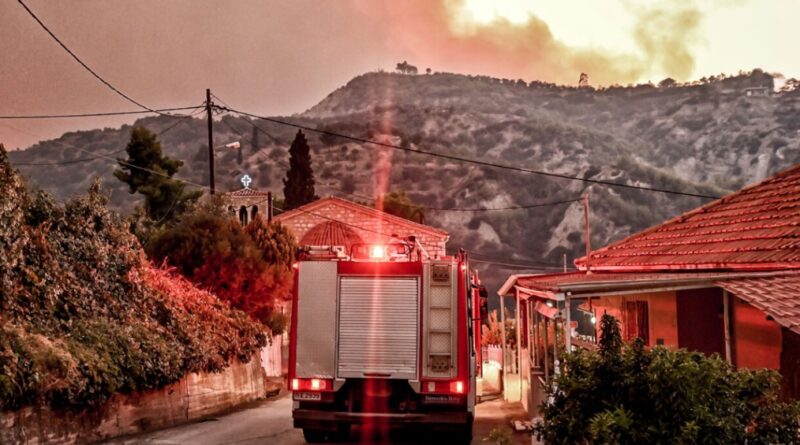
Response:
[[[466,411],[434,413],[351,413],[296,409],[292,412],[295,428],[318,428],[324,424],[431,425],[457,426],[472,422],[472,413]]]

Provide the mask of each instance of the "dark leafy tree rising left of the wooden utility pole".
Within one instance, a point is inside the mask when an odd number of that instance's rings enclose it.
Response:
[[[128,159],[119,159],[114,176],[128,184],[130,193],[144,195],[148,218],[161,225],[184,213],[202,192],[187,192],[186,185],[172,177],[183,161],[162,154],[161,143],[150,130],[136,127],[125,151]]]

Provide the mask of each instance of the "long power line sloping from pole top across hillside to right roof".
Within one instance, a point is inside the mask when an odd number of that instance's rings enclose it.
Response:
[[[601,185],[607,185],[607,186],[611,186],[611,187],[620,187],[620,188],[627,188],[627,189],[633,189],[633,190],[643,190],[643,191],[649,191],[649,192],[667,193],[667,194],[672,194],[672,195],[691,196],[691,197],[695,197],[695,198],[707,198],[707,199],[718,199],[719,198],[718,196],[703,195],[703,194],[699,194],[699,193],[680,192],[680,191],[677,191],[677,190],[669,190],[669,189],[663,189],[663,188],[658,188],[658,187],[645,187],[645,186],[640,186],[640,185],[624,184],[624,183],[620,183],[620,182],[604,181],[602,179],[581,178],[580,176],[570,176],[570,175],[561,174],[561,173],[552,173],[552,172],[546,172],[546,171],[542,171],[542,170],[533,170],[533,169],[524,168],[524,167],[516,167],[516,166],[512,166],[512,165],[497,164],[497,163],[488,162],[488,161],[481,161],[481,160],[477,160],[477,159],[464,158],[464,157],[455,156],[455,155],[448,155],[448,154],[445,154],[445,153],[439,153],[439,152],[430,151],[430,150],[421,150],[421,149],[418,149],[418,148],[403,147],[401,145],[390,144],[388,142],[373,141],[373,140],[370,140],[370,139],[360,138],[360,137],[356,137],[356,136],[350,136],[350,135],[345,135],[345,134],[341,134],[341,133],[335,133],[335,132],[328,131],[328,130],[320,130],[318,128],[313,128],[313,127],[310,127],[308,125],[296,124],[296,123],[287,122],[287,121],[283,121],[283,120],[275,119],[275,118],[271,118],[271,117],[259,116],[257,114],[248,113],[248,112],[244,112],[244,111],[239,111],[239,110],[236,110],[236,109],[233,109],[233,108],[230,108],[230,107],[220,107],[219,105],[216,105],[216,107],[220,108],[220,109],[222,109],[224,111],[230,111],[230,112],[233,112],[233,113],[238,113],[238,114],[241,114],[241,115],[244,115],[244,116],[249,116],[249,117],[252,117],[252,118],[255,118],[255,119],[261,119],[261,120],[264,120],[264,121],[267,121],[267,122],[272,122],[272,123],[279,124],[279,125],[285,125],[285,126],[289,126],[289,127],[294,127],[294,128],[300,129],[300,130],[306,130],[306,131],[310,131],[310,132],[314,132],[314,133],[318,133],[318,134],[324,134],[324,135],[328,135],[328,136],[338,137],[338,138],[346,139],[346,140],[353,141],[353,142],[359,142],[359,143],[362,143],[362,144],[372,144],[372,145],[377,145],[379,147],[391,148],[393,150],[401,150],[401,151],[406,151],[406,152],[410,152],[410,153],[417,153],[417,154],[437,157],[437,158],[441,158],[441,159],[448,159],[448,160],[451,160],[451,161],[458,161],[458,162],[464,162],[464,163],[469,163],[469,164],[481,165],[481,166],[484,166],[484,167],[491,167],[491,168],[497,168],[497,169],[502,169],[502,170],[511,170],[511,171],[517,171],[517,172],[521,172],[521,173],[528,173],[528,174],[534,174],[534,175],[540,175],[540,176],[548,176],[548,177],[552,177],[552,178],[568,179],[568,180],[571,180],[571,181],[581,181],[581,182],[586,182],[586,183],[591,183],[591,184],[601,184]]]

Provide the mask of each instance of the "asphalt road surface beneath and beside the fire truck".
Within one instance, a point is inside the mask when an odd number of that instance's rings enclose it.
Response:
[[[493,428],[510,428],[512,418],[521,418],[520,408],[505,405],[500,401],[484,402],[477,406],[473,427],[473,444],[487,444],[483,441]],[[515,444],[530,444],[525,433],[514,433]],[[242,410],[200,422],[113,439],[106,445],[301,445],[305,444],[303,433],[292,427],[292,400],[284,395],[275,400],[267,400],[250,405]],[[445,445],[447,437],[441,434],[428,434],[419,430],[398,430],[389,434],[364,437],[354,428],[351,444],[435,444]]]

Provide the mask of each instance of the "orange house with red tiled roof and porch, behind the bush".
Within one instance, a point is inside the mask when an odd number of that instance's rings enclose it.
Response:
[[[559,372],[557,346],[595,347],[605,313],[627,340],[779,371],[784,396],[800,398],[800,166],[575,264],[579,272],[513,275],[498,292],[519,308],[531,408]]]

